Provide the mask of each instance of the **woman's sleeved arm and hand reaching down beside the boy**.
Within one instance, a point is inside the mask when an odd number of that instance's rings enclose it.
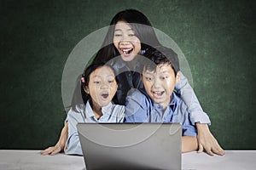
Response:
[[[176,89],[177,93],[181,94],[181,98],[189,107],[189,117],[191,122],[196,125],[199,144],[198,152],[201,153],[205,148],[207,153],[211,156],[213,156],[212,152],[223,156],[224,150],[220,147],[207,126],[207,124],[211,123],[210,119],[207,114],[202,111],[201,105],[196,98],[193,88],[191,88],[187,78],[184,77],[183,74],[181,74],[181,79],[180,82],[177,83]]]

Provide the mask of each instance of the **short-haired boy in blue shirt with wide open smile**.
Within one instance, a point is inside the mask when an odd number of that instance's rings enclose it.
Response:
[[[144,88],[127,96],[125,122],[181,122],[182,152],[197,150],[196,128],[189,120],[188,107],[173,92],[180,79],[177,54],[160,48],[144,55],[149,60],[142,71]]]

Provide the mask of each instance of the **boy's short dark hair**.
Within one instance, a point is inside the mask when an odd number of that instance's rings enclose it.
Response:
[[[143,66],[143,70],[155,71],[157,65],[167,64],[172,66],[175,77],[177,72],[180,71],[177,54],[171,48],[148,48],[144,56],[148,59]]]

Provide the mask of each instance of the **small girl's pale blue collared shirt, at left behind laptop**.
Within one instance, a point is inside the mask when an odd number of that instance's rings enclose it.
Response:
[[[97,120],[90,107],[90,102],[86,105],[76,105],[76,110],[72,108],[67,113],[68,138],[66,154],[83,155],[77,130],[78,122],[124,122],[125,106],[113,105],[111,102],[102,107],[102,116]]]

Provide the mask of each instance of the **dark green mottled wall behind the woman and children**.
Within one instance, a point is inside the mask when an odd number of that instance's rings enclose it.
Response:
[[[256,149],[254,1],[49,1],[0,3],[0,149],[55,144],[66,117],[68,55],[113,15],[137,8],[177,43],[195,93],[225,150]]]

